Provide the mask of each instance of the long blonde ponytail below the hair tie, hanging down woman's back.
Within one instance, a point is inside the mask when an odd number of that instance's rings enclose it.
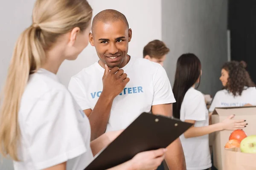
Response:
[[[20,126],[18,112],[20,100],[26,88],[29,74],[41,66],[45,58],[41,29],[30,26],[18,38],[7,79],[1,96],[0,107],[0,153],[18,159],[18,144],[20,143]]]

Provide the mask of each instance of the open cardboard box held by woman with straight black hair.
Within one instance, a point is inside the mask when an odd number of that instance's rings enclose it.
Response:
[[[247,133],[247,136],[256,135],[256,106],[215,108],[212,114],[212,124],[222,122],[231,114],[236,115],[234,119],[246,120],[248,125],[243,130]],[[228,142],[231,132],[232,130],[222,130],[212,133],[213,165],[218,170],[224,170],[224,146]]]

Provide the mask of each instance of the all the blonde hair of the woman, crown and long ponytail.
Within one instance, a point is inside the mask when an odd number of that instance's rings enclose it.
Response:
[[[18,38],[12,54],[0,108],[0,153],[18,159],[20,127],[18,111],[29,74],[41,67],[45,51],[57,38],[79,27],[90,25],[92,8],[86,0],[37,0],[33,24]]]

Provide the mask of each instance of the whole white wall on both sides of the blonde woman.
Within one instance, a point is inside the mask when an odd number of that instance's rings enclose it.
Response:
[[[0,0],[0,88],[12,57],[15,42],[20,33],[31,25],[32,8],[35,0]],[[93,16],[104,9],[116,9],[127,17],[133,35],[129,44],[132,57],[143,57],[143,47],[151,40],[161,40],[161,0],[88,0]],[[147,6],[147,7],[146,7]],[[70,77],[94,62],[98,57],[90,44],[76,61],[65,61],[58,77],[68,85]],[[0,170],[12,170],[12,162],[4,160]]]

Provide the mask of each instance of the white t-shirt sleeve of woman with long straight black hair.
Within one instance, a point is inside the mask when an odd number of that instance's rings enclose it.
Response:
[[[203,94],[196,94],[184,103],[185,120],[206,120],[206,104]]]

